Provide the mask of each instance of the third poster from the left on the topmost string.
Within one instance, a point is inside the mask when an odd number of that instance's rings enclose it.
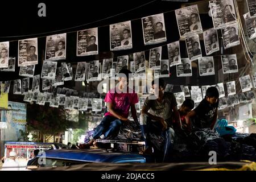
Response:
[[[66,34],[46,37],[46,60],[66,59]]]

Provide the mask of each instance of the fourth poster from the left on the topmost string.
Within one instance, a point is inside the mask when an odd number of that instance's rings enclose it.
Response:
[[[98,54],[98,28],[77,31],[77,56]]]

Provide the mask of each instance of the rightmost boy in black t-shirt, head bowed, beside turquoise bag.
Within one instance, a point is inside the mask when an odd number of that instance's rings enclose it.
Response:
[[[218,90],[211,86],[207,89],[205,98],[196,109],[185,116],[188,130],[192,129],[191,118],[195,118],[195,127],[213,129],[218,118]]]

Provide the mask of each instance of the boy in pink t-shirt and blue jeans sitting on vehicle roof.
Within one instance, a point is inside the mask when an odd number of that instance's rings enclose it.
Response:
[[[139,102],[138,95],[128,87],[129,74],[131,74],[131,71],[128,69],[121,69],[118,73],[118,86],[110,89],[105,97],[105,102],[108,103],[108,112],[104,115],[100,125],[97,126],[93,139],[86,143],[86,147],[92,146],[94,140],[98,138],[116,137],[121,125],[129,121],[130,108],[134,121],[138,123],[135,108],[135,104]]]

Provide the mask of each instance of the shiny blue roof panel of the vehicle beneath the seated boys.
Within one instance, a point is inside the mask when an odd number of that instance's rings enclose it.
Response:
[[[43,154],[38,155],[38,157]],[[144,159],[142,155],[129,152],[108,152],[102,149],[48,150],[46,158],[76,160],[80,162],[118,162],[118,160]]]

